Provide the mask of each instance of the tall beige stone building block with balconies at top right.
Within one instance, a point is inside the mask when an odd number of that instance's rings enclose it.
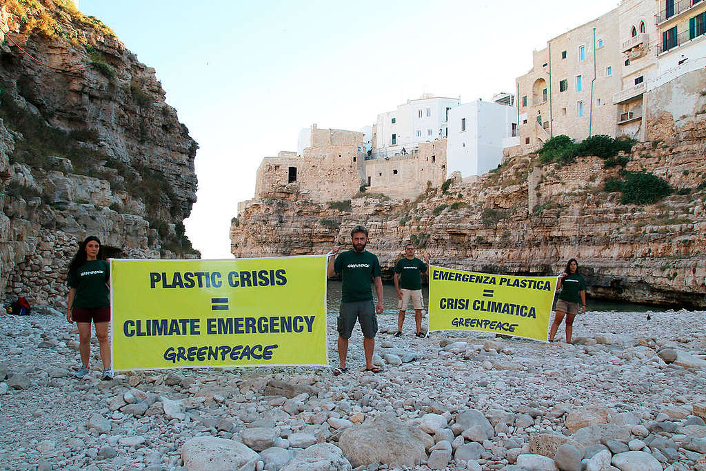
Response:
[[[520,148],[552,136],[646,138],[647,92],[706,66],[706,2],[621,0],[618,8],[549,40],[517,78]],[[684,83],[690,83],[685,81]],[[702,87],[684,91],[688,102]]]

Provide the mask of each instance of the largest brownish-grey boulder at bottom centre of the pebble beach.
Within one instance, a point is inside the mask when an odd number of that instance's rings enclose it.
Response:
[[[426,460],[426,448],[433,444],[431,436],[390,414],[348,427],[338,439],[338,446],[354,467],[369,463],[415,466]]]

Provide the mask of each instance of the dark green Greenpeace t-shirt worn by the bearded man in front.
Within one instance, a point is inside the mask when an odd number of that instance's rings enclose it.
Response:
[[[373,299],[370,280],[381,275],[378,257],[369,251],[357,252],[351,249],[336,257],[333,268],[343,277],[341,302]]]

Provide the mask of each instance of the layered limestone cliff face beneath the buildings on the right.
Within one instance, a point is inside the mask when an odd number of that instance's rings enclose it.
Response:
[[[700,83],[706,83],[706,74]],[[693,79],[693,77],[690,77]],[[664,177],[674,193],[650,205],[621,203],[604,190],[618,169],[598,157],[573,165],[540,165],[537,155],[513,157],[472,186],[429,191],[415,202],[352,200],[337,210],[315,204],[295,186],[253,201],[234,219],[238,257],[325,254],[350,246],[363,223],[369,249],[390,277],[411,241],[431,262],[489,273],[556,275],[578,258],[589,293],[630,302],[706,306],[706,97],[690,119],[650,116],[648,136],[626,169]],[[702,185],[706,186],[706,185]]]

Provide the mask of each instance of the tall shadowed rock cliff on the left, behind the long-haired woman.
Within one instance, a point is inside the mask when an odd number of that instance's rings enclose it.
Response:
[[[90,234],[112,256],[197,256],[181,221],[198,146],[164,95],[70,1],[0,6],[0,298],[61,304]]]

